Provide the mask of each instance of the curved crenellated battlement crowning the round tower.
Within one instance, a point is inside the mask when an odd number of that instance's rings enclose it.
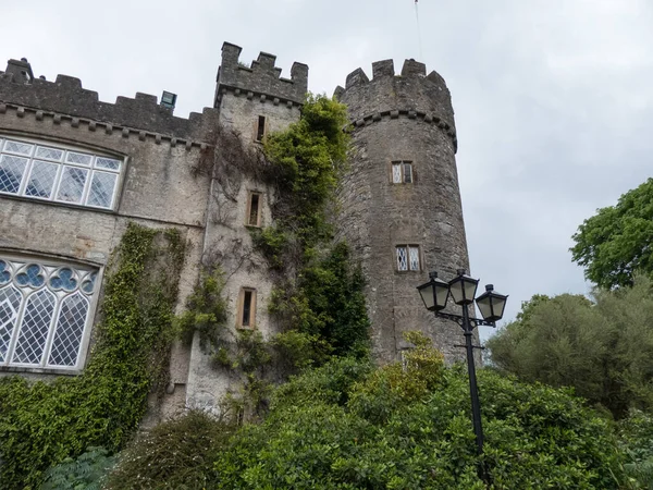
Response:
[[[438,124],[457,145],[451,94],[436,72],[427,75],[427,66],[406,60],[401,75],[395,74],[393,60],[372,63],[372,78],[362,69],[347,75],[345,88],[334,96],[347,105],[349,118],[360,127],[384,117],[408,117]]]

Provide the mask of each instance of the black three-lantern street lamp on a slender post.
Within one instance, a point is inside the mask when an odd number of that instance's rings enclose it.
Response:
[[[498,294],[494,291],[492,284],[485,286],[485,292],[476,298],[479,311],[483,316],[480,318],[469,317],[469,305],[475,302],[476,290],[479,284],[478,279],[467,275],[465,269],[458,269],[458,275],[448,283],[438,279],[438,272],[429,274],[431,279],[426,284],[418,286],[424,306],[435,316],[453,320],[463,328],[465,334],[465,347],[467,348],[467,369],[469,371],[469,394],[471,396],[471,419],[473,422],[473,432],[477,439],[477,453],[483,454],[483,427],[481,426],[481,402],[479,401],[479,391],[476,380],[476,367],[473,362],[473,344],[471,338],[473,329],[478,326],[496,327],[496,321],[503,317],[508,296]],[[446,314],[442,310],[446,306],[448,297],[456,305],[463,307],[463,315]],[[481,466],[481,476],[486,481],[484,466]]]

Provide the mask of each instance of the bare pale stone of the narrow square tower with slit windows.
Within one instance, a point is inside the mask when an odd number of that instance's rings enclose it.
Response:
[[[266,118],[266,134],[285,130],[296,122],[307,90],[308,68],[295,63],[292,79],[282,78],[281,69],[274,66],[275,57],[261,52],[251,69],[247,69],[238,60],[239,52],[239,47],[229,42],[222,48],[215,108],[225,132],[235,132],[245,149],[260,151],[262,144],[256,140],[259,117]],[[251,233],[256,228],[246,222],[252,192],[260,194],[260,228],[272,223],[271,206],[276,196],[271,186],[257,180],[256,172],[243,163],[224,159],[218,148],[207,206],[205,260],[215,261],[224,271],[227,327],[235,334],[241,291],[252,289],[256,290],[256,329],[269,340],[280,331],[268,314],[274,282],[267,260],[254,249]],[[196,335],[188,377],[188,405],[217,409],[224,395],[233,391],[237,394],[237,387],[238,380],[233,373],[212,365],[210,354],[202,352]]]

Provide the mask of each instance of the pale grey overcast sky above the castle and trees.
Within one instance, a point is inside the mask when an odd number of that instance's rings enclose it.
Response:
[[[246,62],[276,54],[282,76],[307,63],[329,95],[373,61],[426,62],[453,96],[471,272],[510,295],[508,318],[589,291],[571,235],[653,170],[651,0],[419,0],[419,27],[414,0],[2,3],[0,62],[104,101],[170,90],[183,117],[212,105],[225,40]]]

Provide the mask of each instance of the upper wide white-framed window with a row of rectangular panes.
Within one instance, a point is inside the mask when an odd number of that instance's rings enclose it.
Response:
[[[123,162],[0,135],[0,194],[113,209]]]

